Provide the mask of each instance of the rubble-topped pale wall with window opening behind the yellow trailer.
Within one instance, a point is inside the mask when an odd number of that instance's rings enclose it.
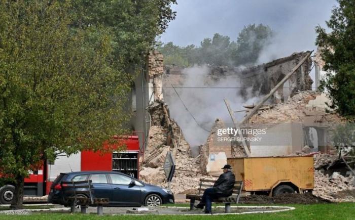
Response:
[[[334,147],[332,147],[329,139],[331,136],[329,133],[331,129],[329,128],[331,128],[331,125],[344,122],[345,119],[335,112],[329,112],[323,102],[327,102],[327,98],[322,93],[315,91],[299,92],[286,103],[279,103],[273,105],[271,109],[258,111],[251,117],[249,123],[273,125],[275,128],[277,126],[291,125],[280,129],[279,135],[277,135],[289,137],[291,153],[300,152],[304,146],[312,145],[309,142],[309,136],[312,134],[309,134],[308,131],[309,128],[314,128],[315,134],[313,135],[317,139],[317,146],[314,146],[312,151],[334,153]],[[272,137],[273,134],[275,133],[270,133],[269,135],[271,138],[277,139],[277,136]],[[257,148],[261,148],[261,146]],[[273,156],[280,155],[278,150],[271,151],[271,148],[266,149],[269,150],[268,154],[274,154]],[[260,149],[258,151],[260,154],[263,152]]]

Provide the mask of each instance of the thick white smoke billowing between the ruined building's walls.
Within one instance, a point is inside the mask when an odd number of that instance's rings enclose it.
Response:
[[[228,99],[233,111],[243,109],[244,104],[249,105],[258,101],[256,97],[249,97],[245,100],[239,95],[240,90],[246,90],[248,94],[251,94],[251,88],[241,89],[240,87],[243,86],[240,85],[240,80],[235,75],[221,76],[214,81],[208,74],[206,65],[185,68],[182,73],[185,76],[183,84],[174,85],[174,87],[200,126],[185,109],[170,84],[164,85],[164,99],[169,106],[171,117],[180,125],[191,146],[205,143],[209,135],[206,130],[210,130],[216,118],[221,118],[225,123],[232,123],[223,99]],[[235,113],[235,117],[240,121],[244,114],[245,112]]]

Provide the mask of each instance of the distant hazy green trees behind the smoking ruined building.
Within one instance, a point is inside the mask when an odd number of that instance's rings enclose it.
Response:
[[[200,47],[189,45],[180,47],[172,42],[160,43],[157,47],[164,55],[165,65],[191,66],[193,64],[246,65],[254,64],[262,49],[270,43],[273,32],[263,24],[244,27],[236,41],[216,33],[212,38],[204,38]]]

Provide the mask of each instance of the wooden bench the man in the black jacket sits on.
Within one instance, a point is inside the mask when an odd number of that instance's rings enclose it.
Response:
[[[194,208],[195,200],[201,201],[203,191],[207,188],[213,187],[215,180],[200,179],[200,186],[198,189],[198,194],[187,194],[186,199],[190,199],[190,210]],[[225,212],[231,212],[231,203],[238,203],[241,190],[243,188],[243,181],[236,181],[234,183],[233,194],[229,197],[221,197],[215,199],[213,202],[220,202],[225,204]]]

